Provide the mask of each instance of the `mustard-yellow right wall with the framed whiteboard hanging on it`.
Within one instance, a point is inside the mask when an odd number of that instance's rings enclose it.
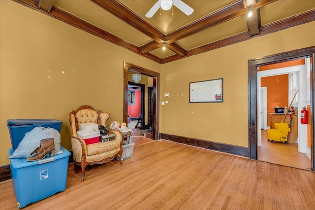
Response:
[[[160,132],[248,147],[248,60],[315,46],[312,35],[314,21],[162,65]],[[216,78],[223,103],[189,104],[189,82]]]

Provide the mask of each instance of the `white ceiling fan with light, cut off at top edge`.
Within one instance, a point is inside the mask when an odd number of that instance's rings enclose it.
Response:
[[[159,7],[161,7],[163,10],[169,10],[172,8],[172,5],[176,6],[186,15],[191,15],[193,12],[193,8],[184,3],[182,0],[158,0],[146,14],[146,17],[153,17],[153,15],[158,11]]]

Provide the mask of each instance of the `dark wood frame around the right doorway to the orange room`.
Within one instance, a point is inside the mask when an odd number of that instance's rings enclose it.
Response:
[[[315,114],[315,46],[284,52],[276,55],[266,56],[262,58],[249,60],[248,66],[248,79],[249,79],[249,115],[248,115],[248,130],[249,130],[249,157],[257,159],[257,67],[277,64],[286,61],[295,60],[312,56],[312,69],[311,69],[311,116]],[[311,170],[315,169],[315,117],[311,119]]]

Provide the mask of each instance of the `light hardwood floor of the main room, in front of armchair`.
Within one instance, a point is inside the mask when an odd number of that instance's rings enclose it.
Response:
[[[315,173],[172,141],[132,137],[133,156],[86,170],[68,166],[66,189],[25,207],[56,210],[315,209]],[[16,209],[12,181],[0,209]]]

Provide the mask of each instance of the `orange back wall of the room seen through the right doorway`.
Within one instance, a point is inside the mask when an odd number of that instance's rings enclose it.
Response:
[[[288,106],[288,77],[289,74],[283,74],[261,78],[261,87],[267,87],[267,116],[275,113],[275,106]],[[270,120],[267,126],[271,127]]]

